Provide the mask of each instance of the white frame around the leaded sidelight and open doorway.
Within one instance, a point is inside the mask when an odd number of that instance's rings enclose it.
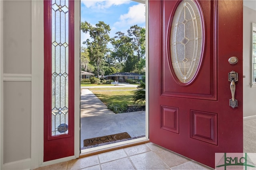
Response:
[[[146,49],[148,49],[148,0],[135,0],[144,3],[146,6]],[[1,1],[2,2],[2,1]],[[74,156],[60,158],[43,162],[44,155],[44,2],[42,0],[32,0],[32,103],[31,103],[31,169],[39,166],[55,164],[80,156],[80,0],[75,0],[75,105],[74,105]],[[2,11],[2,10],[1,10]],[[1,62],[2,63],[2,62]],[[1,67],[2,69],[2,67]],[[1,86],[2,88],[2,86]],[[2,95],[1,95],[2,96]],[[146,101],[148,101],[148,51],[146,51]],[[2,102],[2,101],[1,101]],[[2,109],[2,107],[1,107]],[[1,119],[2,121],[2,119]],[[2,123],[1,123],[2,125]],[[2,128],[1,128],[2,129]],[[1,133],[2,134],[2,133]],[[2,140],[2,137],[1,137]],[[146,137],[142,139],[124,141],[122,145],[148,140],[148,103],[146,103]],[[117,147],[115,144],[111,147]],[[1,145],[2,146],[2,145]],[[86,150],[86,153],[97,152],[106,149],[97,147]],[[2,150],[1,150],[2,153]],[[2,157],[2,156],[1,156]],[[2,161],[2,159],[1,159]]]

